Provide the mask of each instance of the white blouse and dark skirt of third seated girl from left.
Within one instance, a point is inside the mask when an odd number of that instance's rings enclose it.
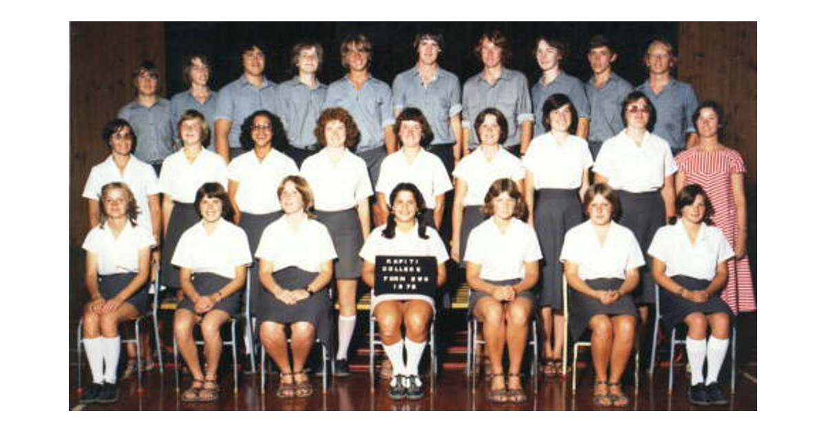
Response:
[[[264,228],[255,257],[273,264],[273,279],[286,290],[306,289],[319,275],[321,263],[335,260],[335,246],[324,224],[304,218],[297,228],[282,216]],[[330,294],[318,289],[309,298],[287,305],[263,288],[255,308],[260,322],[310,322],[321,341],[330,339]]]

